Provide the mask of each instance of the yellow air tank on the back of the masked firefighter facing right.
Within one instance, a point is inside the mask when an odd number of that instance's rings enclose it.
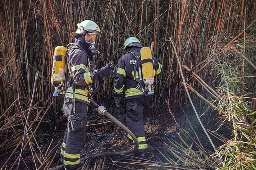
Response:
[[[67,49],[63,46],[57,46],[54,50],[53,64],[52,64],[52,85],[55,87],[54,96],[58,96],[58,87],[64,82]]]

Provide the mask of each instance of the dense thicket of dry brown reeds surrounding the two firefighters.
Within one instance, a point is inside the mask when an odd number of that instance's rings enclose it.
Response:
[[[175,121],[175,114],[193,118],[187,118],[190,130],[176,121],[181,142],[170,142],[183,154],[167,146],[174,156],[169,163],[256,169],[254,0],[1,0],[0,16],[2,167],[20,166],[24,148],[35,169],[53,163],[57,151],[41,150],[36,132],[59,128],[62,99],[52,96],[50,83],[54,48],[73,41],[78,22],[93,20],[103,55],[96,56],[96,67],[117,64],[129,36],[145,46],[155,42],[164,73],[157,79],[154,118],[162,111]],[[111,105],[112,85],[112,77],[96,85],[99,103]],[[179,159],[184,154],[190,156]]]

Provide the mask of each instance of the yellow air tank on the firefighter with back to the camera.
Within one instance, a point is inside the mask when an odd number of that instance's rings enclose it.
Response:
[[[151,49],[150,47],[142,47],[140,49],[140,58],[141,61],[143,59],[152,59]],[[153,63],[146,62],[142,64],[142,78],[145,84],[145,90],[148,91],[148,94],[152,94],[152,85],[154,83],[154,70],[153,70]]]

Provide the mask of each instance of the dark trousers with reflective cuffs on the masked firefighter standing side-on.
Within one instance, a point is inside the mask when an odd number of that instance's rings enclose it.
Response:
[[[80,151],[86,140],[86,119],[88,105],[75,101],[75,113],[72,99],[65,98],[63,112],[68,117],[68,127],[64,135],[60,157],[68,170],[76,169],[80,164]]]

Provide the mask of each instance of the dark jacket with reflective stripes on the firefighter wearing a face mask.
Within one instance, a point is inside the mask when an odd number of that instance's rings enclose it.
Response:
[[[87,51],[82,49],[78,43],[69,44],[68,47],[68,70],[72,79],[69,88],[66,90],[65,97],[73,98],[73,82],[75,82],[75,101],[89,104],[88,96],[90,95],[90,83],[92,83],[91,56]]]

